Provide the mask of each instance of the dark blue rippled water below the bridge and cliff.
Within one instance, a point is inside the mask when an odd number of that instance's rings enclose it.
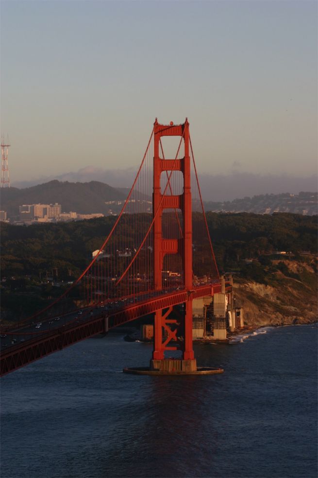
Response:
[[[196,345],[221,375],[121,373],[151,344],[109,334],[1,379],[1,478],[317,476],[317,326]]]

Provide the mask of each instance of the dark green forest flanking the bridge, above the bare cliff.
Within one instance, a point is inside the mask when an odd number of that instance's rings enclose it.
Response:
[[[237,268],[243,259],[285,250],[317,252],[317,216],[207,212],[218,267]],[[56,224],[1,224],[1,276],[40,278],[58,269],[59,279],[77,277],[100,248],[116,218]],[[52,275],[50,273],[50,275]]]

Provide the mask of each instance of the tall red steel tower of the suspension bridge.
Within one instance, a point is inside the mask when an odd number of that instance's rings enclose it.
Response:
[[[184,287],[188,292],[188,299],[184,304],[184,342],[181,344],[183,360],[181,370],[183,372],[195,371],[196,360],[192,345],[192,210],[191,210],[191,174],[189,154],[189,123],[169,125],[159,124],[157,119],[154,123],[154,157],[153,157],[153,233],[154,233],[154,288],[162,289],[162,269],[166,254],[180,253],[184,271]],[[162,159],[159,155],[159,145],[162,136],[180,136],[184,142],[184,158]],[[179,148],[180,149],[180,148]],[[163,171],[181,171],[184,177],[184,192],[181,195],[162,195],[160,177]],[[183,237],[182,239],[164,239],[162,234],[162,214],[165,209],[180,209],[183,214]],[[163,314],[163,310],[157,310],[154,319],[154,350],[151,360],[152,369],[160,369],[161,361],[165,358],[166,350],[176,350],[177,347],[168,347],[170,340],[177,339],[177,329],[171,330],[170,324],[176,324],[177,320],[169,319],[172,307]],[[163,331],[167,338],[163,341]],[[180,345],[180,344],[179,344]]]

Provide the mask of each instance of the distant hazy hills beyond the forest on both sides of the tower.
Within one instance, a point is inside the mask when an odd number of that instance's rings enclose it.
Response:
[[[8,217],[18,216],[22,204],[53,204],[62,205],[62,212],[77,212],[80,214],[102,213],[108,215],[118,213],[130,189],[113,188],[100,181],[68,182],[52,180],[30,188],[2,188],[0,190],[1,210]],[[131,197],[134,199],[134,194]],[[140,199],[150,200],[139,195]],[[116,201],[115,204],[109,204]],[[266,194],[234,199],[233,201],[204,201],[206,211],[214,212],[293,212],[304,215],[318,213],[318,195],[312,192],[301,192],[298,195],[282,193]],[[117,204],[118,202],[118,204]],[[108,204],[106,204],[108,203]],[[111,212],[110,212],[111,211]]]

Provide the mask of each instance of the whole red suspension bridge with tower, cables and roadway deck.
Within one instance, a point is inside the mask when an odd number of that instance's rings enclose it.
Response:
[[[178,141],[172,158],[165,157],[165,137]],[[48,307],[1,328],[10,342],[1,347],[1,375],[148,314],[150,370],[167,369],[165,353],[180,350],[177,370],[196,372],[192,301],[220,291],[189,123],[156,119],[122,210],[90,264]]]

